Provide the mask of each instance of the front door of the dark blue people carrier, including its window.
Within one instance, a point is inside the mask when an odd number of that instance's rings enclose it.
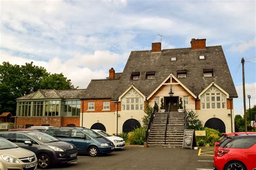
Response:
[[[71,143],[77,147],[80,153],[86,153],[88,146],[91,144],[91,138],[79,130],[72,130]]]

